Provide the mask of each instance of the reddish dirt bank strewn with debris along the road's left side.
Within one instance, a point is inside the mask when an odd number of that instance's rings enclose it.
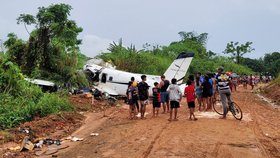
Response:
[[[5,157],[33,157],[31,155],[53,155],[56,150],[67,148],[62,138],[71,135],[84,123],[84,114],[88,111],[101,112],[112,107],[107,101],[99,100],[92,104],[92,95],[81,94],[69,97],[77,112],[63,112],[47,117],[35,117],[18,128],[0,132],[0,155]],[[32,127],[32,128],[31,128]],[[95,134],[97,136],[98,134]],[[82,141],[83,138],[71,137],[70,141]],[[11,142],[11,145],[6,145]],[[52,148],[49,148],[52,146]],[[55,149],[53,149],[55,148]],[[22,151],[22,152],[19,152]],[[29,152],[26,152],[29,151]],[[15,154],[14,154],[15,153]]]

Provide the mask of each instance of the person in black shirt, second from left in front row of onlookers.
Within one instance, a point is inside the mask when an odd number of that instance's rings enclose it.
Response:
[[[146,112],[146,105],[148,104],[148,98],[149,98],[149,85],[146,83],[146,75],[141,76],[142,81],[138,84],[138,93],[139,93],[139,99],[140,99],[140,113],[141,113],[141,119],[144,119],[145,112]]]

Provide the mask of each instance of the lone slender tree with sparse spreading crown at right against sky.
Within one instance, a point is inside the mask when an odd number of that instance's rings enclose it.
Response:
[[[240,64],[240,58],[246,54],[250,53],[254,48],[251,47],[253,42],[246,42],[245,44],[239,44],[239,42],[233,42],[227,44],[224,54],[231,54],[235,59],[236,63]]]

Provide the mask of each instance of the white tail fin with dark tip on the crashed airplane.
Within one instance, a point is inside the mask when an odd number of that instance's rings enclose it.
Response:
[[[178,84],[182,83],[193,57],[194,53],[180,53],[178,57],[173,61],[173,63],[169,66],[169,68],[165,71],[165,78],[168,80],[176,78]]]

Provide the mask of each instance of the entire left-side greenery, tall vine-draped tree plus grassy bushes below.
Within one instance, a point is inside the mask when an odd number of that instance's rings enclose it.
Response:
[[[28,41],[8,34],[4,42],[7,51],[0,54],[0,129],[31,121],[34,116],[74,110],[65,95],[43,93],[24,80],[28,76],[57,83],[88,84],[85,75],[77,71],[87,57],[78,47],[81,40],[77,36],[82,28],[68,19],[71,9],[69,5],[56,4],[40,7],[36,16],[21,14],[18,23],[35,25]]]

